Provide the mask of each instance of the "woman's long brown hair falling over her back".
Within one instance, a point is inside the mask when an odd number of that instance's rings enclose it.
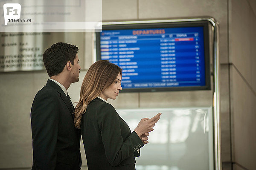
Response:
[[[89,103],[106,90],[119,73],[122,77],[122,69],[108,60],[100,60],[90,66],[82,82],[80,99],[74,113],[76,128],[81,128],[81,118]]]

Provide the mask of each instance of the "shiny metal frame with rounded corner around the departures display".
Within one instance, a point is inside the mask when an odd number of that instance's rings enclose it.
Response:
[[[219,24],[213,17],[198,17],[198,18],[180,18],[166,20],[136,20],[136,21],[105,21],[102,25],[115,24],[138,24],[138,23],[167,23],[167,22],[185,22],[185,21],[209,21],[213,28],[213,52],[214,52],[214,88],[213,88],[213,108],[214,108],[214,164],[215,170],[222,170],[221,163],[221,122],[220,122],[220,91],[219,91]],[[95,45],[94,37],[94,45]],[[94,46],[95,50],[95,46]],[[95,54],[95,53],[94,53]],[[96,54],[93,55],[96,62]]]

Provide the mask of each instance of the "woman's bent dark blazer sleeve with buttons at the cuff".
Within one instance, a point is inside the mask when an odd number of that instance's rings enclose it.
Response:
[[[144,146],[136,132],[132,132],[125,140],[122,138],[119,115],[112,105],[100,106],[97,120],[106,157],[112,166],[118,166]]]

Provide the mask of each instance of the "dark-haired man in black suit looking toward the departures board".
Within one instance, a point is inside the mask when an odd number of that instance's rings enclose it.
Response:
[[[79,81],[78,47],[58,42],[43,54],[50,77],[35,95],[31,108],[32,170],[81,169],[81,132],[74,126],[74,106],[67,94]]]

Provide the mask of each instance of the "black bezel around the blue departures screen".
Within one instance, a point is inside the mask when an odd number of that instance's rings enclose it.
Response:
[[[141,28],[177,28],[177,27],[201,27],[204,28],[204,62],[205,85],[186,87],[159,87],[159,88],[128,88],[120,92],[155,92],[155,91],[195,91],[211,90],[210,85],[210,51],[209,51],[209,21],[184,21],[163,23],[132,23],[132,24],[107,24],[102,23],[102,30],[141,29]],[[96,60],[101,60],[100,32],[96,32]]]

